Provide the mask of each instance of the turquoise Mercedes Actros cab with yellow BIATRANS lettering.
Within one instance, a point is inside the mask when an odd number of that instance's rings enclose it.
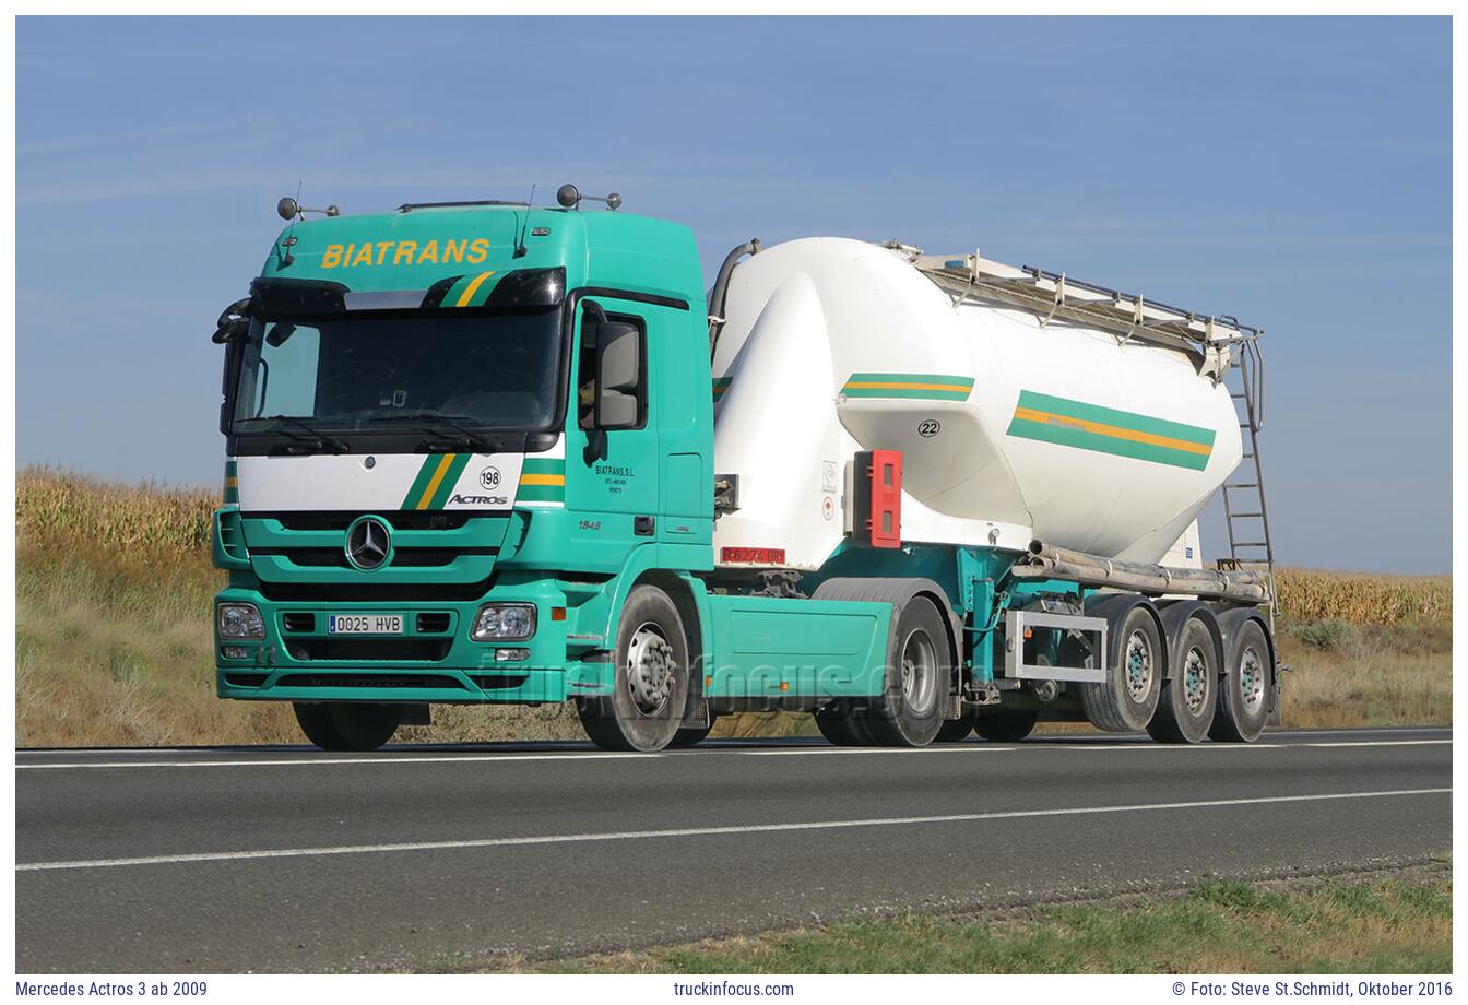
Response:
[[[686,227],[627,213],[294,222],[226,343],[214,560],[247,625],[216,624],[219,694],[606,694],[622,587],[712,565],[700,282]],[[625,373],[599,395],[612,348]],[[518,628],[476,637],[499,602],[526,604]]]

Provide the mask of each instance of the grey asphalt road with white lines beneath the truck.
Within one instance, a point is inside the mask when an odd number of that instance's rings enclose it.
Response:
[[[21,973],[423,968],[1421,861],[1447,729],[16,756]]]

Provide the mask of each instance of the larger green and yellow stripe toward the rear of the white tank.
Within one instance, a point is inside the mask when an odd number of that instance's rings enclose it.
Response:
[[[1010,436],[1202,471],[1214,430],[1022,390]]]

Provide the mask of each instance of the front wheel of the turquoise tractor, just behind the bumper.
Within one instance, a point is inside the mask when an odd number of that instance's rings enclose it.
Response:
[[[688,641],[666,593],[633,587],[617,625],[614,659],[612,694],[577,698],[581,728],[602,750],[662,750],[678,734],[688,700]]]

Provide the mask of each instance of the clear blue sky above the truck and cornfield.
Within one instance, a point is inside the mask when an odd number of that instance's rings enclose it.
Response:
[[[217,481],[208,335],[298,182],[573,180],[706,274],[900,238],[1258,324],[1279,558],[1450,568],[1446,18],[22,18],[16,57],[21,464]]]

